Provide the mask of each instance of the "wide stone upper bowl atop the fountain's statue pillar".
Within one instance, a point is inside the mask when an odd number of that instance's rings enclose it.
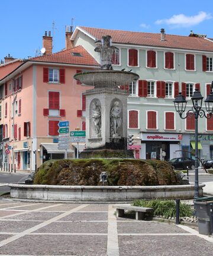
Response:
[[[73,77],[82,84],[94,86],[95,88],[118,88],[120,85],[128,85],[139,78],[137,73],[113,70],[76,73]]]

